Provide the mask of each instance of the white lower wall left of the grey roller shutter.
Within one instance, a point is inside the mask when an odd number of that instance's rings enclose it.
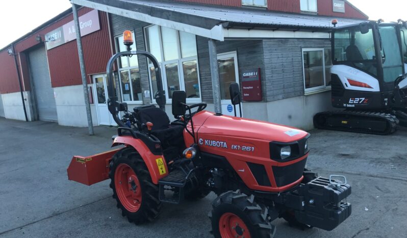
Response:
[[[24,108],[22,107],[21,92],[12,92],[1,95],[4,106],[4,115],[8,119],[26,121]],[[23,91],[25,99],[27,117],[29,121],[33,121],[33,111],[31,107],[30,91]]]

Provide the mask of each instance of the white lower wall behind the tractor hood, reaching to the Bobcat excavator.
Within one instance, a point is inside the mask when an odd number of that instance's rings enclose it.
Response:
[[[330,91],[310,94],[267,103],[243,103],[243,115],[271,123],[297,127],[303,130],[314,128],[313,117],[317,112],[329,111]]]

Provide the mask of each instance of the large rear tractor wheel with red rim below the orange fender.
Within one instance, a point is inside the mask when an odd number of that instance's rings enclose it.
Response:
[[[121,215],[129,222],[141,224],[154,220],[160,212],[158,186],[142,157],[132,147],[119,150],[110,161],[110,187]]]

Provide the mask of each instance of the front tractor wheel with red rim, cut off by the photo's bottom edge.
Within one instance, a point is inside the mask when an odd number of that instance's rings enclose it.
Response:
[[[270,224],[268,209],[255,202],[255,196],[228,191],[212,202],[209,214],[216,238],[272,238],[275,226]]]

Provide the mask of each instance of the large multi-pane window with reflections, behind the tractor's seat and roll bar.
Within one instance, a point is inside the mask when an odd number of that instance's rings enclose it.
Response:
[[[184,90],[188,103],[201,102],[195,35],[156,25],[146,27],[144,32],[147,51],[160,63],[167,99],[171,100],[173,91]],[[150,60],[148,67],[154,97],[157,79]]]

